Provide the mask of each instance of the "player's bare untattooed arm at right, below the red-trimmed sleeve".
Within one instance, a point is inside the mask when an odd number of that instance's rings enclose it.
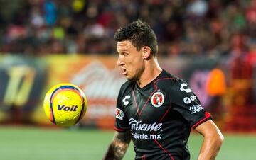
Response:
[[[198,160],[214,160],[224,140],[220,130],[212,120],[203,122],[195,130],[204,137]]]

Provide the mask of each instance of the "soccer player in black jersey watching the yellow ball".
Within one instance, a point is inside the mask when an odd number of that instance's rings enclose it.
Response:
[[[114,35],[126,81],[119,91],[114,138],[103,159],[122,159],[134,142],[135,159],[188,160],[191,128],[203,135],[198,159],[215,159],[223,135],[182,79],[161,69],[151,27],[140,20]]]

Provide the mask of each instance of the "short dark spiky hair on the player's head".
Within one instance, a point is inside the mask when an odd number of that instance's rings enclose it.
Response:
[[[114,40],[117,40],[117,42],[129,40],[137,50],[140,50],[143,46],[148,46],[151,48],[153,57],[158,52],[157,38],[154,30],[152,30],[149,24],[139,19],[125,27],[119,28],[114,34]]]

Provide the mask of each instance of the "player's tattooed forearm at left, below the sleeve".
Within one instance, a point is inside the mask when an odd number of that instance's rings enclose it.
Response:
[[[125,132],[115,132],[114,139],[107,149],[107,154],[103,160],[119,160],[124,157],[127,148],[129,147],[129,142],[131,141],[131,132],[129,130]]]

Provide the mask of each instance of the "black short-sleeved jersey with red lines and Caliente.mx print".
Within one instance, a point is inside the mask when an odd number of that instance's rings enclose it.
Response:
[[[210,118],[188,84],[163,70],[143,88],[122,85],[114,129],[132,132],[135,159],[188,160],[191,128]]]

